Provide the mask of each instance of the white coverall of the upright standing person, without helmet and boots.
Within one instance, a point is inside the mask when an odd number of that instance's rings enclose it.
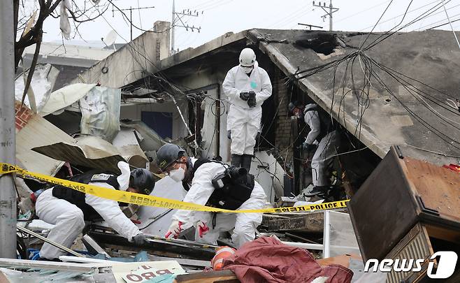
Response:
[[[268,73],[259,67],[257,61],[248,76],[240,66],[230,69],[222,83],[224,94],[229,96],[230,110],[227,117],[227,131],[231,131],[231,154],[254,153],[257,132],[262,117],[261,105],[271,96],[271,82]],[[247,101],[240,99],[241,92],[256,93],[256,107],[250,108]]]

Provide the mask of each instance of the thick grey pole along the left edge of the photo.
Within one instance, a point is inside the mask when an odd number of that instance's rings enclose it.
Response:
[[[0,1],[0,162],[15,164],[13,0]],[[16,259],[16,192],[13,175],[0,176],[0,257]]]

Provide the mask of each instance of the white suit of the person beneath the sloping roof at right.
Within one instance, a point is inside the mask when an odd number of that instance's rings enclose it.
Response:
[[[319,121],[319,114],[317,110],[311,110],[316,108],[316,104],[308,104],[303,110],[304,119],[306,124],[310,127],[310,132],[306,137],[306,143],[312,145],[315,143],[321,131],[327,131],[327,129],[321,129],[321,122]],[[310,110],[310,111],[309,111]],[[329,162],[337,154],[336,147],[339,145],[337,131],[331,131],[327,133],[324,138],[319,140],[318,147],[312,158],[312,181],[315,187],[322,187],[329,185],[329,176],[326,173]]]

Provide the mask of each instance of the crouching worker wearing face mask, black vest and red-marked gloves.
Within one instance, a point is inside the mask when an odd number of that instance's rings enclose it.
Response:
[[[264,189],[245,168],[187,157],[182,147],[173,144],[159,148],[157,165],[171,179],[182,182],[187,203],[229,210],[257,210],[266,203]],[[181,231],[195,226],[197,242],[215,245],[220,232],[233,229],[231,240],[240,247],[254,240],[262,214],[178,210],[172,219],[166,238],[177,238]]]

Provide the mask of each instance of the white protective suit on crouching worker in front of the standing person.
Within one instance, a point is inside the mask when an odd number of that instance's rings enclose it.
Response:
[[[196,159],[192,158],[192,164]],[[205,205],[208,198],[213,194],[214,187],[211,183],[214,177],[223,173],[225,170],[222,164],[209,162],[199,166],[194,174],[192,186],[190,187],[184,200],[187,203]],[[257,210],[264,208],[266,195],[264,189],[258,182],[255,182],[254,189],[250,198],[245,201],[238,210]],[[211,245],[217,244],[220,232],[227,232],[233,229],[231,240],[236,247],[240,247],[245,242],[254,240],[255,230],[262,222],[261,213],[217,213],[215,227],[213,228],[213,213],[193,210],[178,210],[172,217],[183,223],[182,229],[194,226],[200,220],[205,222],[210,231],[200,238],[198,232],[195,239],[197,242],[205,242]],[[197,229],[198,230],[198,229]]]

